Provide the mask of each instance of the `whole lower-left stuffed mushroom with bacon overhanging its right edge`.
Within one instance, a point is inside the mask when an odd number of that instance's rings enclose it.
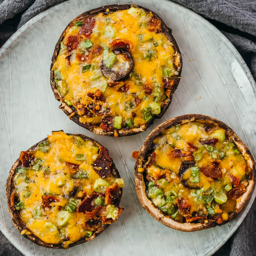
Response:
[[[21,235],[66,249],[91,241],[117,220],[123,186],[107,148],[84,135],[57,131],[21,151],[6,198]]]

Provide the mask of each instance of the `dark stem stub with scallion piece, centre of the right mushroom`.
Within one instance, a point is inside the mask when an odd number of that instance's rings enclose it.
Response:
[[[195,161],[182,162],[178,175],[181,178],[181,182],[186,187],[191,189],[198,189],[198,182],[200,181],[199,168],[195,166]]]

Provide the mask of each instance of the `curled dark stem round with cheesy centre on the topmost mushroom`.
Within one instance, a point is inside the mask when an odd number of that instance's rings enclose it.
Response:
[[[133,58],[123,49],[115,49],[108,58],[102,62],[101,71],[108,81],[119,81],[126,78],[133,69]]]

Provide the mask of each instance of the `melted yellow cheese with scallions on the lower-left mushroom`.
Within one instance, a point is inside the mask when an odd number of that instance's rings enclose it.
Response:
[[[123,179],[115,179],[112,174],[102,179],[94,171],[92,164],[98,157],[99,146],[90,140],[59,131],[53,132],[45,142],[32,151],[35,159],[30,168],[16,169],[15,209],[20,210],[24,227],[30,232],[46,243],[62,243],[67,248],[97,230],[87,230],[89,218],[76,210],[81,199],[95,192],[97,180],[111,186],[117,180],[123,183]],[[78,171],[70,173],[66,162],[79,166]],[[44,195],[53,195],[57,201],[43,207]],[[98,228],[101,226],[99,222]]]

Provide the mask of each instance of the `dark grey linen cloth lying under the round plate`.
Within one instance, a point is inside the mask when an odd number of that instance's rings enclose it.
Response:
[[[0,0],[0,46],[24,23],[63,0]],[[127,0],[127,2],[129,2]],[[174,0],[207,18],[241,53],[256,79],[256,0]],[[256,202],[215,256],[256,255]],[[21,255],[0,233],[0,255]]]

